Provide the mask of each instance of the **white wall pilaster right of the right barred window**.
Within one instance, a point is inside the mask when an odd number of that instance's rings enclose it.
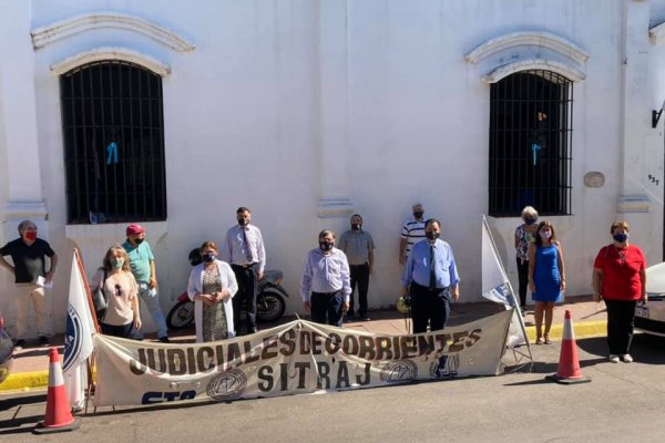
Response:
[[[618,213],[646,213],[645,141],[651,124],[647,97],[649,2],[625,0],[623,31],[622,162]]]

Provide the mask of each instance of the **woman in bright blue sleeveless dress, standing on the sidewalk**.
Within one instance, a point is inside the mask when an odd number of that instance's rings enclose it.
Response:
[[[554,302],[562,301],[565,289],[563,251],[556,241],[554,227],[550,222],[541,222],[535,230],[534,241],[529,246],[529,287],[535,301],[535,344],[550,344],[550,329],[554,313]],[[543,315],[545,334],[543,336]]]

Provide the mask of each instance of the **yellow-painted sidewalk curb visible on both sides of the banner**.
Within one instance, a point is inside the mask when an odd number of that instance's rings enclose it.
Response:
[[[573,324],[573,329],[576,339],[604,337],[607,332],[607,322],[604,320],[582,321],[577,324]],[[535,341],[535,327],[528,326],[526,334],[529,336],[529,341],[533,343]],[[550,330],[550,338],[553,340],[561,340],[562,336],[563,324],[553,324]],[[48,387],[49,371],[12,373],[2,384],[0,384],[0,393],[38,391],[45,390]]]

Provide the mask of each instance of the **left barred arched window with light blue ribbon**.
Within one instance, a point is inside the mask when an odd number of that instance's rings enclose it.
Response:
[[[162,78],[102,61],[60,78],[69,224],[166,219]]]

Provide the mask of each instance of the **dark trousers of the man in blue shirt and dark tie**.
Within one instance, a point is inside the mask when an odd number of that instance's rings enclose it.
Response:
[[[430,290],[411,281],[410,292],[413,333],[427,332],[428,320],[430,331],[443,329],[450,317],[450,289]]]

